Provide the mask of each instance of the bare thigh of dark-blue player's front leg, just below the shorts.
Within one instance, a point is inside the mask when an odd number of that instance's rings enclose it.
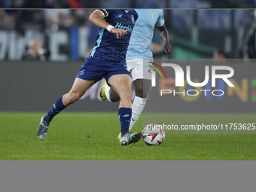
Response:
[[[128,74],[112,75],[108,78],[108,84],[113,87],[119,96],[132,92],[132,80]]]

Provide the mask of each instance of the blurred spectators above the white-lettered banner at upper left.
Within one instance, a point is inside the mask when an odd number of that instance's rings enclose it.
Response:
[[[0,27],[3,29],[40,28],[83,26],[93,10],[86,9],[2,9],[0,10]]]

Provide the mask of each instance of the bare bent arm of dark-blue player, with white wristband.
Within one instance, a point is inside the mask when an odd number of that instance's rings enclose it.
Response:
[[[102,27],[104,29],[108,29],[108,26],[110,26],[110,25],[109,25],[109,23],[105,22],[103,17],[104,17],[104,15],[102,14],[101,11],[94,11],[93,14],[90,15],[89,20],[96,26]],[[114,33],[115,35],[117,35],[117,38],[120,38],[123,35],[127,34],[126,30],[117,29],[117,28],[114,28],[113,26],[111,26],[109,31]]]

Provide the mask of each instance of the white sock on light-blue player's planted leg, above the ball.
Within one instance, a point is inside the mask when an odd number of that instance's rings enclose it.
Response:
[[[135,96],[133,100],[133,105],[132,105],[132,117],[131,117],[129,131],[132,130],[134,124],[137,122],[137,120],[139,119],[139,116],[142,114],[143,108],[146,105],[146,101],[147,101],[147,98],[143,99],[139,96]]]

